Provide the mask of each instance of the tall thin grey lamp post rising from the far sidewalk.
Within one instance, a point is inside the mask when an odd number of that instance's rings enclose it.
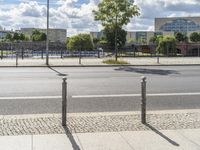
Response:
[[[46,65],[49,65],[49,0],[47,0]]]

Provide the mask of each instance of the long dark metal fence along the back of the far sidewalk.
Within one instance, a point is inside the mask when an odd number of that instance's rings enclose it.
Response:
[[[178,45],[179,46],[179,45]],[[198,45],[197,45],[198,46]],[[180,46],[179,46],[180,47]],[[170,56],[200,56],[200,49],[191,47],[187,49],[186,54],[182,54],[177,50],[177,54],[158,54],[156,52],[156,45],[129,45],[118,50],[119,57],[170,57]],[[115,51],[110,47],[101,47],[97,50],[82,50],[69,51],[66,43],[50,42],[49,43],[49,57],[51,58],[65,58],[65,57],[112,57]],[[0,58],[41,58],[46,56],[45,42],[1,42],[0,43]]]

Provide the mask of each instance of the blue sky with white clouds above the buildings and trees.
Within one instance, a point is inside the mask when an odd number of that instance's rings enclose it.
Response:
[[[50,27],[67,29],[67,36],[100,31],[92,10],[102,0],[49,0]],[[0,0],[0,28],[46,28],[47,0]],[[124,26],[127,31],[153,31],[155,17],[200,16],[200,0],[135,0],[141,15]]]

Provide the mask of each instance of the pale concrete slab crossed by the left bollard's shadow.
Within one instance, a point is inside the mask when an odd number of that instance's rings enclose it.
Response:
[[[75,135],[48,134],[33,136],[33,150],[79,150],[80,143]]]

